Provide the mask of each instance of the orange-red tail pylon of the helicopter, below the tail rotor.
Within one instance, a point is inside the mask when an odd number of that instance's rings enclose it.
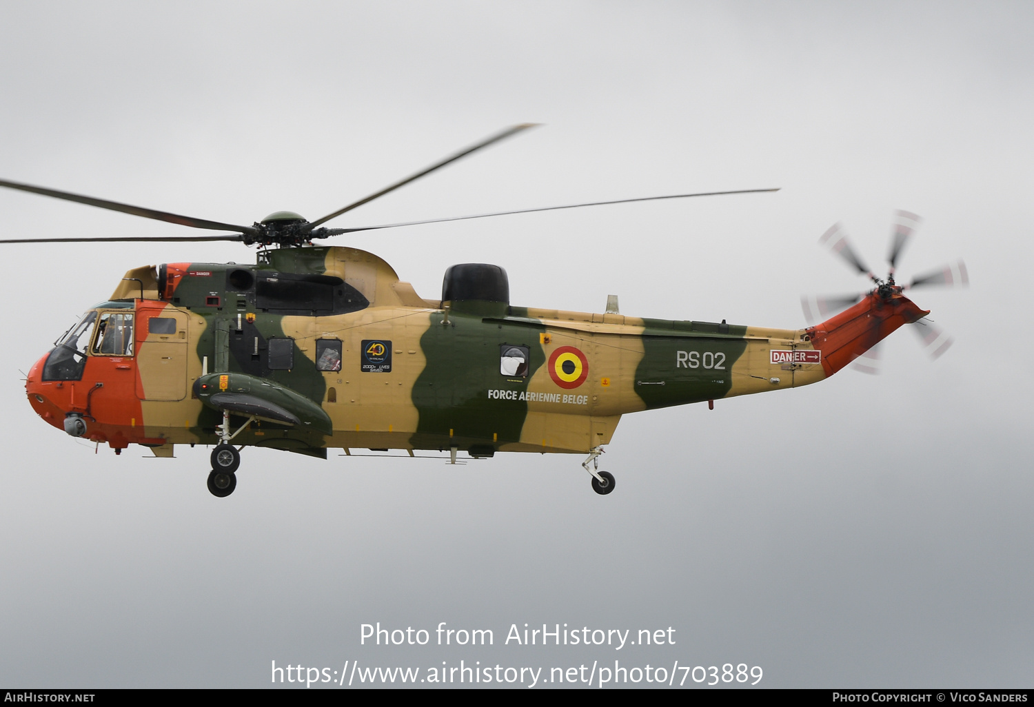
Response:
[[[837,316],[805,330],[812,345],[822,351],[822,368],[829,377],[900,327],[930,314],[901,293],[883,297],[870,293]]]

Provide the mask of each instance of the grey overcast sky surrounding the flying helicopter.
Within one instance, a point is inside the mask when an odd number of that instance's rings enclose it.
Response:
[[[626,314],[799,328],[801,294],[864,287],[819,236],[843,221],[882,263],[902,208],[924,220],[901,272],[962,257],[972,286],[916,293],[955,340],[936,362],[906,331],[879,376],[627,417],[606,497],[575,456],[249,451],[216,499],[207,450],[94,454],[36,418],[19,371],[129,268],[253,253],[6,246],[0,685],[677,660],[758,666],[768,687],[1032,686],[1032,20],[1029,2],[4,3],[3,179],[314,218],[534,121],[330,225],[779,186],[341,243],[429,298],[449,265],[487,262],[514,304],[616,294]],[[17,192],[0,213],[3,238],[181,233]],[[377,621],[494,643],[361,645]],[[524,623],[675,643],[505,643]]]

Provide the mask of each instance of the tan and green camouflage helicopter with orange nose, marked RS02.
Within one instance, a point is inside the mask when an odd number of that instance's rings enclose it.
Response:
[[[894,282],[912,234],[899,225],[886,279],[872,275],[841,229],[824,237],[875,283],[848,299],[813,299],[824,321],[799,330],[625,316],[510,304],[506,271],[449,268],[440,299],[424,299],[388,263],[313,240],[372,228],[601,204],[776,191],[748,189],[598,202],[349,228],[323,224],[519,132],[517,125],[315,221],[280,211],[250,226],[68,192],[0,186],[181,225],[231,232],[159,238],[16,239],[2,243],[235,241],[260,246],[255,265],[166,263],[129,270],[26,376],[33,409],[73,437],[130,443],[172,457],[214,444],[208,488],[237,486],[245,447],[323,459],[328,449],[587,454],[592,489],[614,477],[599,457],[627,412],[795,388],[838,372],[920,309]],[[904,213],[904,212],[903,212]],[[914,225],[914,224],[913,224]],[[961,268],[961,270],[960,270]],[[965,267],[909,286],[956,284]],[[841,313],[840,309],[847,308]],[[936,332],[931,329],[930,332]],[[939,332],[926,334],[937,349]]]

